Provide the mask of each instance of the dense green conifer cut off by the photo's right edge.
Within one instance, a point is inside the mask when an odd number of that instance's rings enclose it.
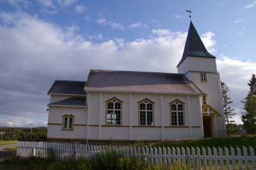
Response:
[[[256,78],[255,74],[251,75],[251,80],[247,83],[250,86],[250,91],[241,102],[243,103],[243,109],[245,113],[242,113],[243,126],[247,133],[256,133]]]

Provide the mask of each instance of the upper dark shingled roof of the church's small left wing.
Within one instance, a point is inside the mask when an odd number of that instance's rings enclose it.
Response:
[[[86,81],[55,80],[47,94],[78,94],[86,95],[84,86]]]

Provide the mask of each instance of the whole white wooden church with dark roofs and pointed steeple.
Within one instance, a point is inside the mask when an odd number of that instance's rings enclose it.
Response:
[[[90,70],[56,80],[47,140],[171,140],[226,136],[216,57],[192,22],[178,73]]]

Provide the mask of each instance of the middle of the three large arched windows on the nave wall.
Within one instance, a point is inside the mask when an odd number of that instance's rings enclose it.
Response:
[[[154,102],[149,99],[139,101],[139,125],[154,125]]]

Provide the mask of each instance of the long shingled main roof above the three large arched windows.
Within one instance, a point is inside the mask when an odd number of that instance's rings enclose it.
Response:
[[[183,74],[129,71],[91,70],[85,90],[202,94]]]

